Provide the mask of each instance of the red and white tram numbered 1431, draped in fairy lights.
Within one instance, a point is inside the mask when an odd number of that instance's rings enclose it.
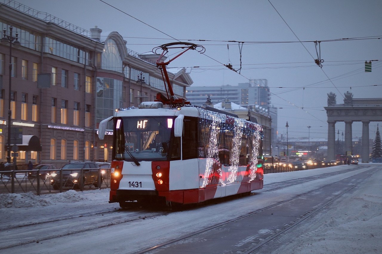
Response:
[[[109,203],[192,204],[261,189],[262,126],[176,100],[159,94],[100,122],[101,140],[113,123]]]

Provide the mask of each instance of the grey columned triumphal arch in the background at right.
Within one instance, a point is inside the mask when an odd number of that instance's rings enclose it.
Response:
[[[324,107],[328,116],[328,159],[335,159],[335,123],[345,122],[345,151],[352,152],[351,124],[362,122],[362,162],[369,163],[369,123],[382,122],[382,98],[353,98],[351,104]]]

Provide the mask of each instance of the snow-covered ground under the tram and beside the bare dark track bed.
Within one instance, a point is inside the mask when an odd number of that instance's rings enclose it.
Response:
[[[4,254],[73,253],[73,249],[87,253],[89,251],[86,246],[91,246],[92,253],[136,253],[139,249],[248,214],[248,211],[262,209],[320,186],[356,177],[357,174],[369,174],[374,170],[375,173],[366,177],[356,188],[276,238],[276,242],[271,242],[270,245],[283,243],[272,253],[284,254],[380,253],[382,171],[375,170],[376,167],[380,165],[341,165],[265,174],[264,190],[253,191],[256,195],[194,209],[172,211],[164,215],[163,211],[149,209],[121,211],[118,203],[107,203],[110,189],[69,190],[40,196],[30,192],[0,194],[0,249],[15,246],[1,249]],[[340,174],[327,177],[327,173],[331,172]],[[308,183],[267,191],[267,185],[272,183],[315,175],[322,177]],[[338,194],[334,193],[333,196]],[[215,216],[216,214],[219,216]],[[146,219],[136,220],[143,217]],[[182,223],[174,224],[174,221]],[[253,241],[254,237],[265,238],[269,231],[270,229],[264,228],[253,232],[254,236],[247,241]],[[29,244],[20,244],[26,242]]]

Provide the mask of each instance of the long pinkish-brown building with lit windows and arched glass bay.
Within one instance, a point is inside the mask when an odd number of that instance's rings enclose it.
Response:
[[[98,124],[116,108],[137,107],[165,93],[157,55],[129,50],[118,32],[101,40],[98,27],[87,31],[40,15],[15,1],[0,0],[0,26],[7,35],[12,26],[20,42],[18,48],[0,44],[0,161],[7,159],[10,136],[10,145],[20,147],[12,153],[18,164],[107,161],[112,130],[110,126],[100,141]],[[176,96],[186,98],[192,80],[185,69],[169,75]],[[26,137],[37,137],[39,144]]]

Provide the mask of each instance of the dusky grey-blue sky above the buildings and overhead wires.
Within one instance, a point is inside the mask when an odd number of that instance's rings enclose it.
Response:
[[[98,26],[101,40],[116,31],[138,53],[177,40],[204,46],[204,54],[188,51],[168,68],[199,66],[190,74],[193,86],[267,79],[271,103],[279,108],[279,135],[286,134],[288,122],[291,138],[327,138],[323,107],[329,92],[336,93],[338,104],[347,91],[353,98],[382,98],[382,41],[376,39],[382,38],[380,0],[18,2],[87,30]],[[342,40],[346,38],[356,39]],[[227,42],[232,40],[236,42]],[[320,41],[317,47],[314,41]],[[324,60],[322,68],[314,59]],[[379,61],[372,62],[372,72],[364,72],[364,62],[370,60]],[[223,66],[228,63],[240,73]],[[372,139],[377,124],[381,122],[370,122]],[[337,122],[335,128],[345,132],[345,123]],[[353,138],[362,137],[361,122],[352,129]]]

